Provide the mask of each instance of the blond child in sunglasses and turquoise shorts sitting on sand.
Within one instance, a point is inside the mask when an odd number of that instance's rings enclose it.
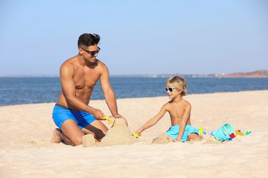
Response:
[[[161,107],[160,112],[142,127],[137,129],[136,133],[141,135],[142,131],[155,125],[166,112],[170,114],[171,127],[166,131],[168,136],[171,136],[177,142],[186,142],[190,140],[199,141],[202,137],[199,136],[198,132],[191,126],[190,112],[191,105],[183,96],[186,96],[187,83],[179,77],[171,77],[166,81],[166,92],[168,97],[171,99],[168,103]],[[156,142],[158,138],[155,138],[153,142]]]

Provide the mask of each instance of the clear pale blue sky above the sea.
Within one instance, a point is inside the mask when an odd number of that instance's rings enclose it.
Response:
[[[268,1],[0,2],[0,75],[58,75],[99,34],[111,75],[268,70]]]

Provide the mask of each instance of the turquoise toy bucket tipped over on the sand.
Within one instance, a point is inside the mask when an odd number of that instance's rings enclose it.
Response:
[[[230,139],[230,135],[233,136],[234,133],[236,133],[236,131],[234,130],[234,128],[232,127],[232,125],[230,125],[230,124],[223,124],[221,126],[221,128],[219,128],[218,130],[216,130],[214,132],[214,137],[216,139],[218,139],[219,141],[221,141],[221,140],[229,140]]]

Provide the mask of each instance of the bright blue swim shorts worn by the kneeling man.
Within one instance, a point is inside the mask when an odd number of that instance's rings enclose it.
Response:
[[[52,118],[58,128],[61,128],[65,120],[68,119],[76,121],[80,129],[86,127],[94,120],[96,120],[94,116],[92,114],[89,114],[88,112],[69,110],[67,107],[58,104],[54,106]]]

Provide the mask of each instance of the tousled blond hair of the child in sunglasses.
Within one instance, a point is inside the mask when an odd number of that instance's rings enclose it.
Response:
[[[177,91],[181,90],[181,96],[186,96],[186,94],[187,94],[187,82],[185,79],[183,79],[179,75],[176,75],[174,77],[169,78],[166,81],[166,86],[168,86],[168,84],[175,86]]]

